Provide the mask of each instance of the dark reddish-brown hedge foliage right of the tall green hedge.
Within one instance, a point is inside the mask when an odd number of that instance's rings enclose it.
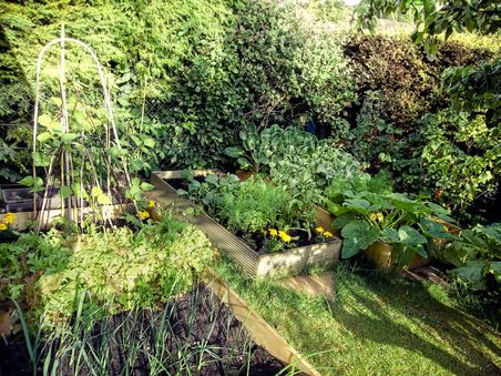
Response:
[[[439,93],[440,75],[448,67],[467,65],[491,57],[483,50],[459,43],[439,45],[434,61],[410,41],[385,37],[355,35],[345,47],[352,62],[360,98],[378,92],[382,119],[405,134],[417,128],[421,116],[446,106]]]

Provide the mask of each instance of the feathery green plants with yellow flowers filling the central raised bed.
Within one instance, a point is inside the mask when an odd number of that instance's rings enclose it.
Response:
[[[315,205],[292,200],[285,186],[260,175],[245,182],[235,175],[208,175],[204,182],[190,177],[188,191],[177,192],[203,203],[211,215],[248,242],[253,242],[254,235],[264,237],[268,252],[296,246],[298,236],[289,232],[303,232],[308,240],[313,238]]]

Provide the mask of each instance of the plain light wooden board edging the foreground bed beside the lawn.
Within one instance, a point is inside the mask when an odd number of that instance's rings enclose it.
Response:
[[[296,375],[320,376],[309,362],[299,355],[256,311],[234,292],[217,274],[207,268],[205,278],[211,291],[227,305],[242,325],[247,329],[253,341],[265,348],[270,355],[286,365]]]

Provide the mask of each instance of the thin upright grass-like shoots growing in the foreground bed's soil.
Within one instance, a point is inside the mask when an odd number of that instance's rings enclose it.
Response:
[[[173,284],[171,294],[175,291]],[[259,364],[263,350],[202,285],[168,299],[159,309],[134,307],[110,315],[109,305],[90,303],[95,303],[92,295],[79,294],[71,322],[57,331],[42,326],[35,333],[28,329],[18,309],[34,373],[236,375],[265,366]],[[253,359],[256,350],[260,358]],[[274,367],[277,372],[282,365]]]

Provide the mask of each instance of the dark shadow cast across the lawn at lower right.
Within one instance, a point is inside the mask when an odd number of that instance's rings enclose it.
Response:
[[[362,275],[358,282],[365,291],[360,285],[339,281],[342,295],[330,303],[333,318],[354,336],[415,352],[453,374],[499,375],[500,368],[480,350],[489,348],[494,356],[501,356],[499,345],[487,335],[489,328],[480,331],[481,324],[473,325],[472,317],[444,305],[422,284],[377,273]],[[345,294],[356,304],[345,299]],[[396,317],[399,315],[418,327],[418,332],[399,323]],[[443,346],[425,339],[419,333],[432,333]]]

